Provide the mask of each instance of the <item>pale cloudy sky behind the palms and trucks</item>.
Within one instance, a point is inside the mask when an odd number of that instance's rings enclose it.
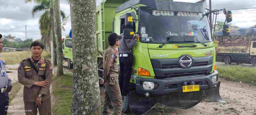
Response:
[[[194,3],[199,0],[173,1]],[[97,5],[101,2],[102,0],[96,0]],[[33,18],[31,9],[34,5],[36,4],[25,4],[24,0],[0,0],[0,34],[11,34],[15,35],[16,38],[25,40],[25,25],[27,25],[28,38],[33,38],[34,40],[41,39],[38,19],[43,12],[36,13]],[[212,0],[212,9],[222,9],[223,7],[232,11],[232,24],[235,24],[238,27],[252,27],[253,25],[256,25],[256,0]],[[70,14],[69,4],[61,0],[60,10],[63,10],[68,16]],[[217,21],[225,21],[224,14],[222,12],[217,16]],[[62,38],[65,38],[71,29],[70,17],[65,29],[66,31],[62,31]]]

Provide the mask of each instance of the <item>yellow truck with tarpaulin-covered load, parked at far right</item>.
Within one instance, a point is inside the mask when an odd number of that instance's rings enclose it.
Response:
[[[222,31],[214,32],[220,41]],[[223,38],[217,48],[217,57],[225,64],[232,62],[256,66],[256,28],[230,29],[230,35]]]

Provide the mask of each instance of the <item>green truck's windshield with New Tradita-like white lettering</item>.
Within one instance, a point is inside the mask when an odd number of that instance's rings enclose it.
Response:
[[[202,13],[157,11],[140,7],[140,41],[146,43],[211,42],[208,19]]]

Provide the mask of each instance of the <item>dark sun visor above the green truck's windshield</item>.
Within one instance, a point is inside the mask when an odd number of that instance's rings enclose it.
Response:
[[[201,3],[173,2],[163,0],[130,0],[117,7],[116,12],[123,11],[136,4],[144,4],[148,7],[161,11],[186,11],[202,13],[205,9]]]

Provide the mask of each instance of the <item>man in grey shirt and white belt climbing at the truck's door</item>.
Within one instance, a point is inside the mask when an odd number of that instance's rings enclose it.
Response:
[[[125,24],[121,26],[122,31],[126,29]],[[119,75],[119,86],[121,89],[122,96],[127,96],[129,91],[129,82],[132,75],[132,62],[133,55],[131,54],[132,47],[136,44],[137,39],[140,37],[136,35],[132,40],[124,39],[124,35],[121,34],[122,39],[120,40],[119,46],[119,65],[120,65],[120,75]]]

